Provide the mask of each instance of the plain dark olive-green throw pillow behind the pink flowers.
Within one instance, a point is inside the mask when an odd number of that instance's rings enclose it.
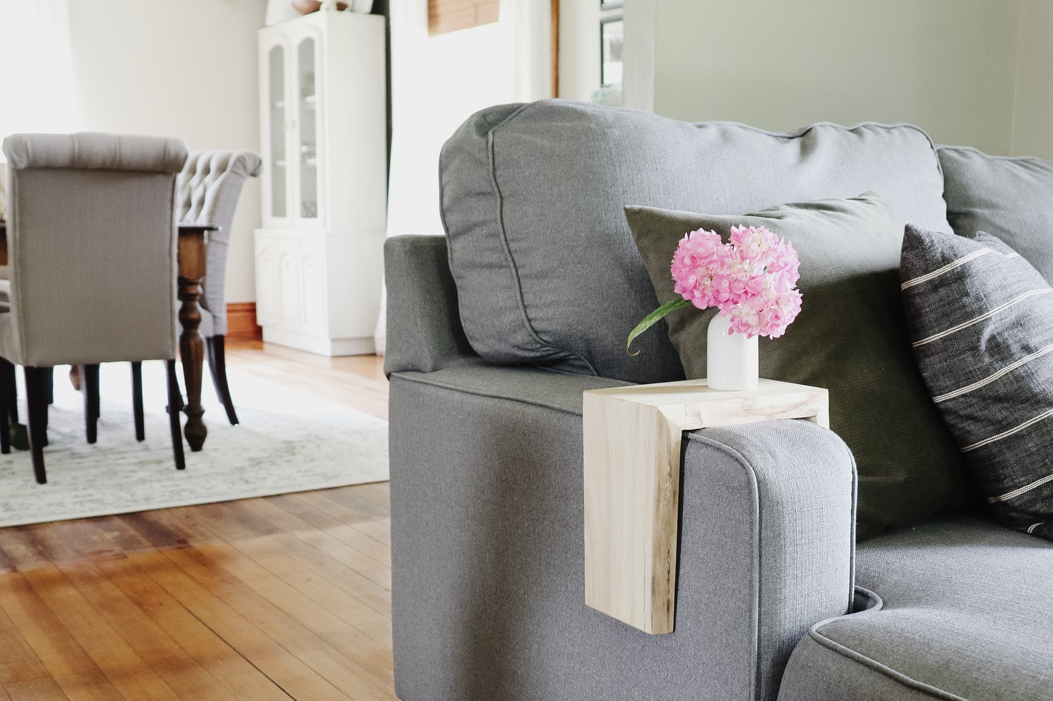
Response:
[[[735,217],[625,207],[625,217],[661,304],[675,296],[670,262],[688,231],[727,240],[734,225],[767,226],[793,243],[801,311],[784,336],[760,339],[760,374],[830,390],[831,429],[859,473],[860,539],[968,502],[954,441],[911,353],[899,298],[903,227],[883,200],[868,193]],[[714,313],[692,307],[665,317],[688,377],[706,376]]]

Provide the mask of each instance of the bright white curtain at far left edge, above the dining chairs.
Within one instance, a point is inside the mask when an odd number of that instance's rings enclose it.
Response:
[[[77,128],[69,0],[0,0],[0,138]]]

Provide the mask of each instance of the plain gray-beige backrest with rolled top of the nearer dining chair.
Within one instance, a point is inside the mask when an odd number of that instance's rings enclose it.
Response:
[[[175,357],[179,139],[4,139],[12,344],[18,365]]]

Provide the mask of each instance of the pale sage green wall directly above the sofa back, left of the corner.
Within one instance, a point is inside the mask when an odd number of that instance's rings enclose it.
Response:
[[[1018,75],[1045,92],[1038,104],[1017,101],[1017,110],[1053,115],[1053,51],[1040,68],[1021,71],[1015,49],[1028,12],[1047,22],[1034,34],[1053,41],[1053,2],[1022,4],[658,0],[654,110],[775,130],[817,121],[911,122],[938,143],[1008,154]],[[1017,128],[1053,149],[1048,131],[1044,140]]]

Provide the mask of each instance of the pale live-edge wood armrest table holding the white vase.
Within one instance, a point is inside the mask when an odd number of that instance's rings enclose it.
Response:
[[[803,418],[830,428],[824,389],[704,379],[584,393],[585,604],[644,633],[672,633],[683,431]]]

